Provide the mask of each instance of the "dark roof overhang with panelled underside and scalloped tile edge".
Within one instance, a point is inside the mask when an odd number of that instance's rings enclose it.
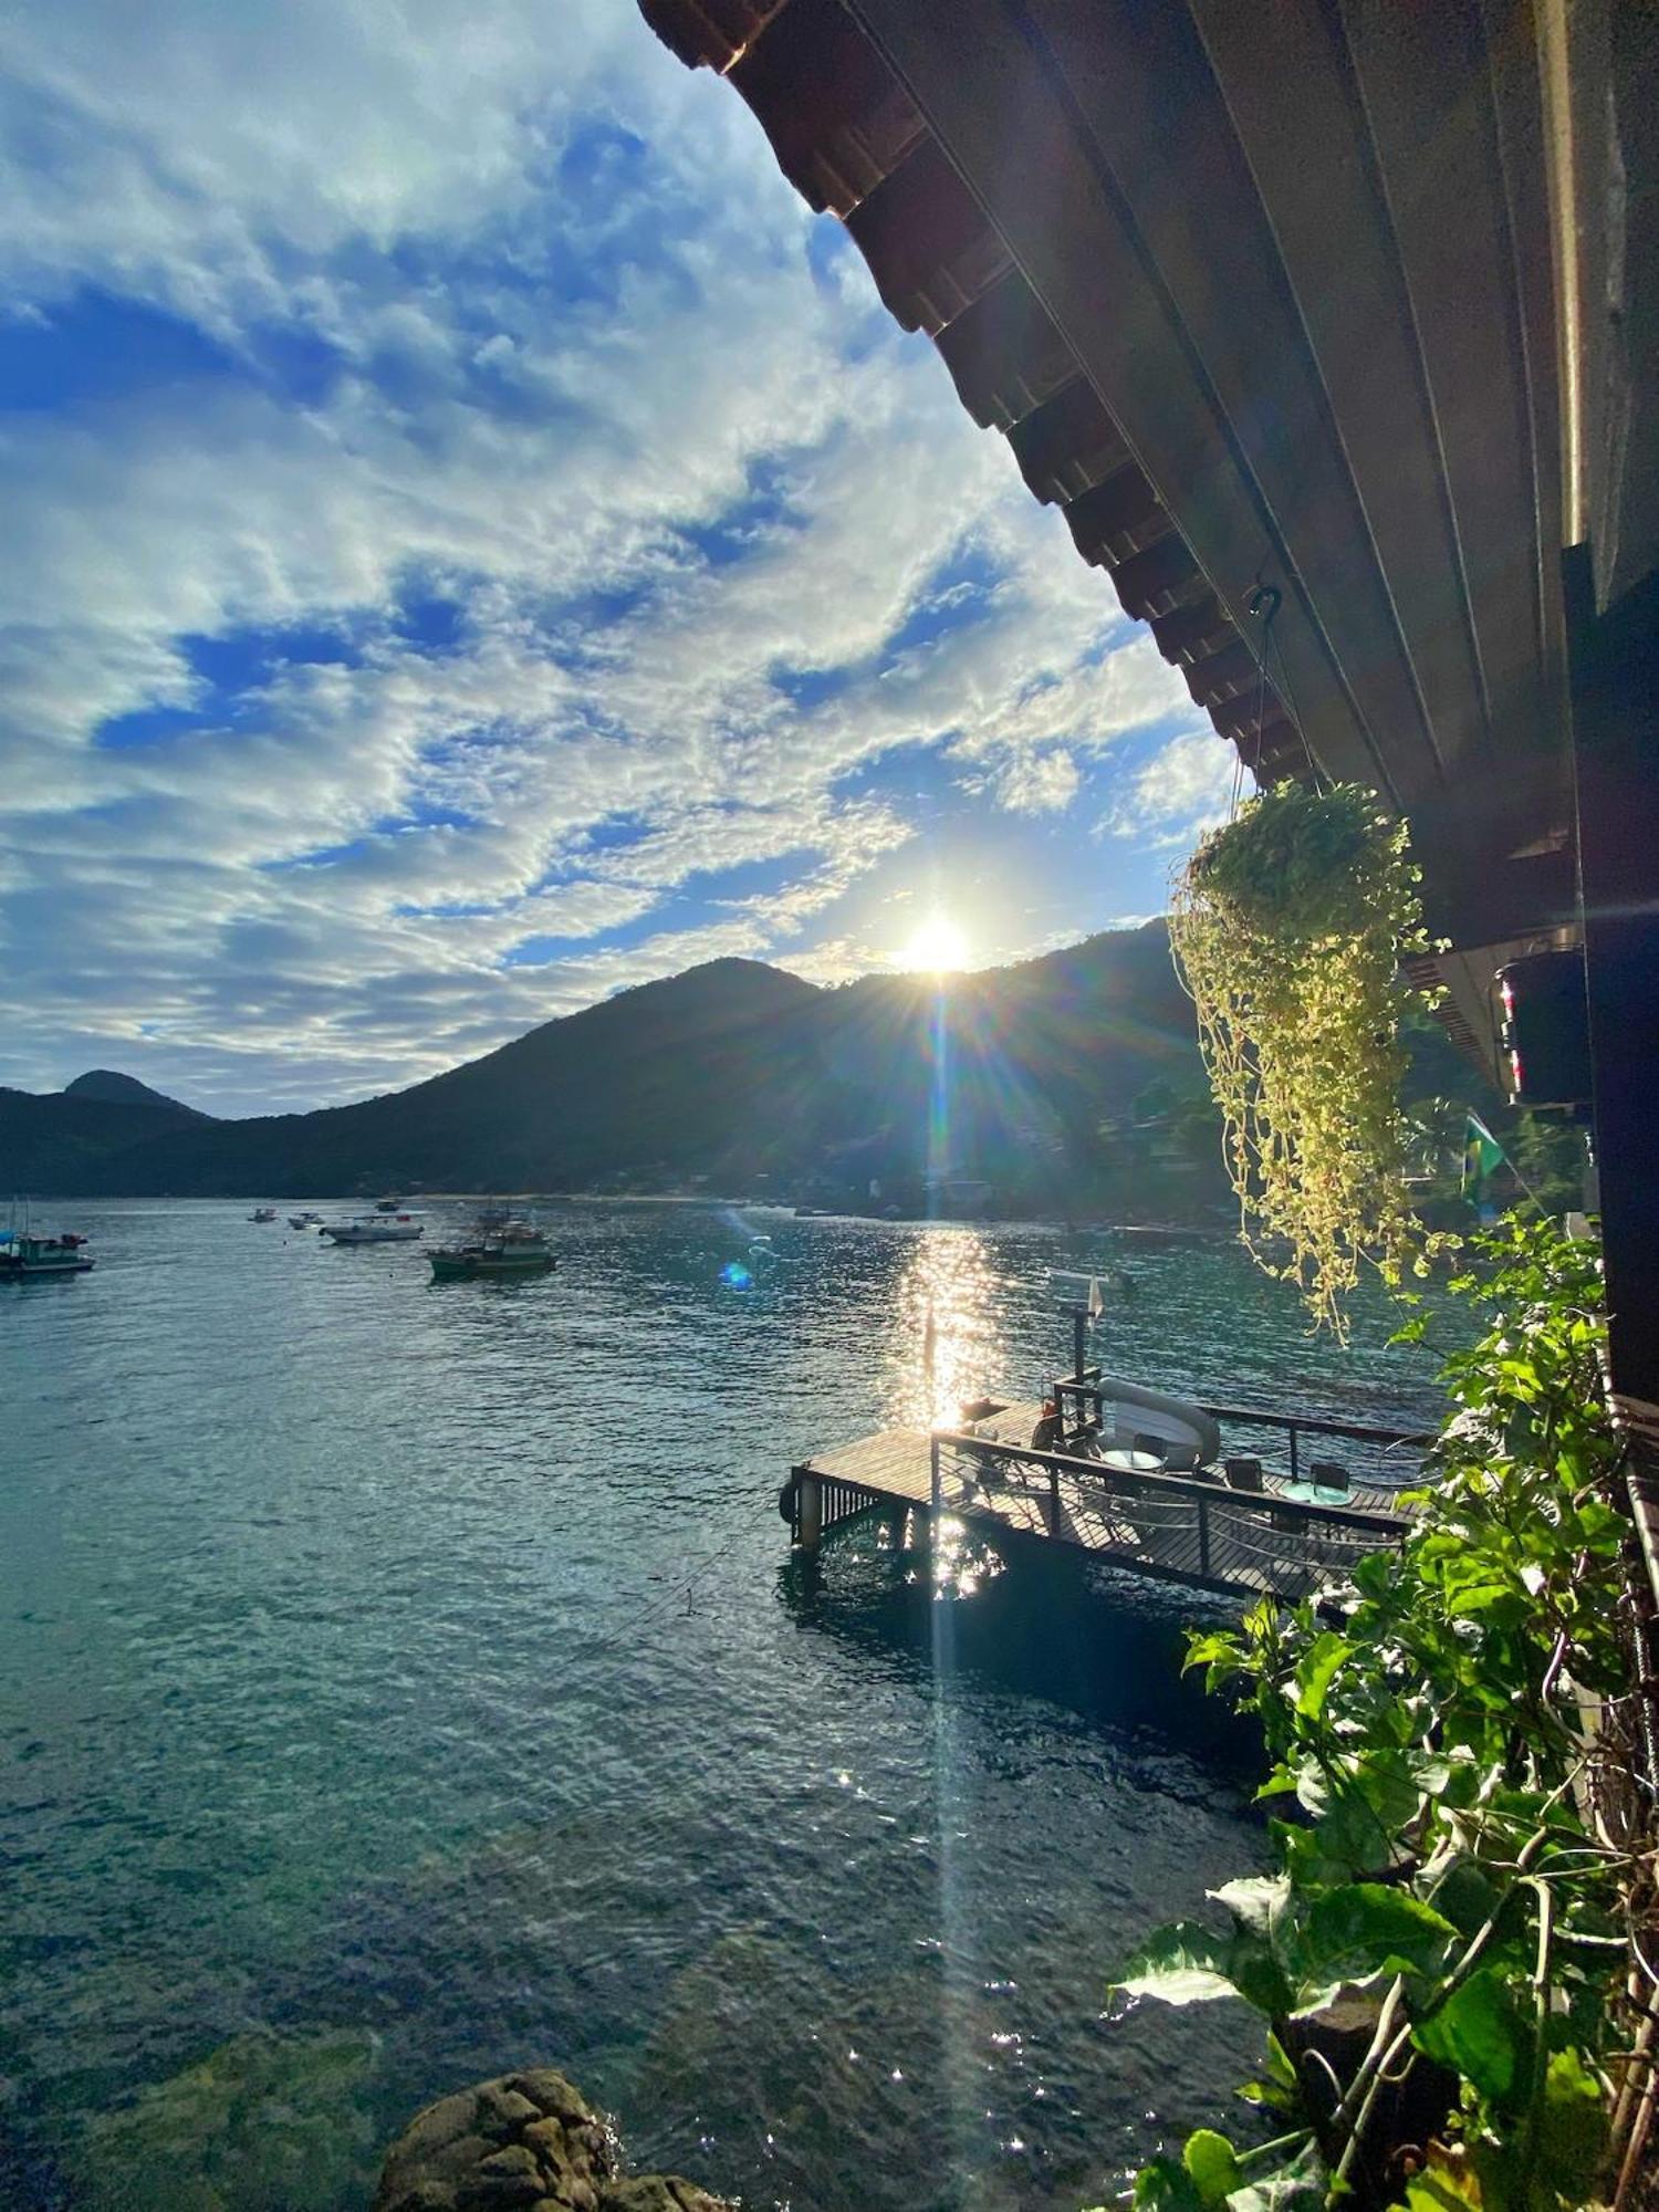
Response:
[[[1573,241],[1604,279],[1606,223],[1573,212],[1595,82],[1562,0],[639,4],[1256,779],[1409,816],[1482,1046],[1495,956],[1573,916]]]

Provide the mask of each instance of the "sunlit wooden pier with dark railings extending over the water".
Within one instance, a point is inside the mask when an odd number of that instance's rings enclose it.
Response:
[[[1394,1484],[1352,1482],[1340,1502],[1290,1495],[1296,1438],[1334,1436],[1374,1451],[1422,1438],[1360,1422],[1208,1407],[1228,1427],[1290,1431],[1290,1469],[1263,1469],[1261,1491],[1219,1473],[1121,1469],[1071,1451],[1033,1451],[1033,1405],[1002,1405],[958,1431],[885,1429],[814,1453],[792,1471],[792,1531],[816,1546],[872,1509],[951,1515],[993,1537],[1064,1544],[1095,1559],[1201,1590],[1318,1597],[1409,1526]],[[1301,1484],[1307,1489],[1310,1484]]]

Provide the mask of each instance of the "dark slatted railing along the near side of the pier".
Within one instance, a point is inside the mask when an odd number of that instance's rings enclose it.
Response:
[[[1398,1544],[1407,1526],[1394,1513],[1234,1491],[1201,1475],[1130,1473],[956,1431],[929,1440],[929,1486],[936,1513],[984,1511],[1013,1526],[1009,1493],[1035,1493],[1031,1535],[1172,1582],[1281,1597],[1345,1579],[1367,1553]]]

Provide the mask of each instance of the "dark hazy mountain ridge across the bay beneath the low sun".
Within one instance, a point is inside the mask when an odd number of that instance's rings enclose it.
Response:
[[[108,1082],[0,1091],[0,1190],[354,1194],[717,1188],[863,1197],[936,1172],[1066,1192],[1152,1077],[1190,1088],[1161,925],[953,978],[821,989],[714,960],[544,1022],[409,1091],[212,1121]],[[128,1079],[113,1079],[131,1099]],[[135,1091],[144,1086],[135,1084]]]

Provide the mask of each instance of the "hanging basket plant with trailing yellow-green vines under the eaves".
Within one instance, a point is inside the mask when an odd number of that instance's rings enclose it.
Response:
[[[1225,1121],[1241,1237],[1347,1336],[1360,1270],[1427,1272],[1400,1113],[1400,960],[1427,953],[1405,823],[1374,792],[1281,783],[1175,885],[1170,942]]]

